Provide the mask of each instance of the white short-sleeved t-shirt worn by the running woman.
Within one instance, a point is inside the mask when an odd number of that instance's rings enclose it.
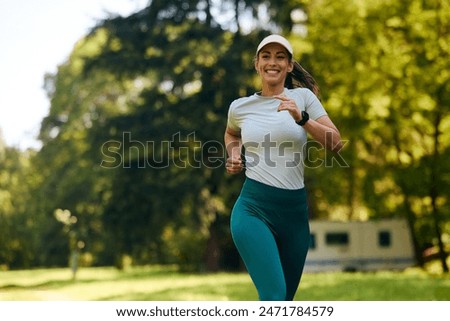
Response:
[[[285,88],[284,94],[294,99],[310,119],[327,115],[307,88]],[[227,125],[241,131],[247,177],[278,188],[300,189],[304,187],[306,131],[288,111],[277,111],[280,102],[258,93],[236,99],[230,105]]]

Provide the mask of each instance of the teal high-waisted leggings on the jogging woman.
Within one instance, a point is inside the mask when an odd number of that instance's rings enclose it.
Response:
[[[247,178],[231,213],[231,234],[261,301],[291,301],[309,248],[305,189]]]

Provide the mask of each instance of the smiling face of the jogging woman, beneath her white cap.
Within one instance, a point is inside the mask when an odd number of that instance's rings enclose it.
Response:
[[[289,55],[282,45],[270,43],[264,46],[258,53],[255,69],[261,76],[262,82],[269,86],[283,84],[288,72],[294,65],[289,60]]]

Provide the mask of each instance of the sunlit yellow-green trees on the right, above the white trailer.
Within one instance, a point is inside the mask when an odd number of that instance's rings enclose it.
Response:
[[[440,71],[449,67],[441,45],[448,41],[446,6],[317,1],[308,7],[313,63],[326,66],[320,73],[325,104],[340,113],[343,136],[351,138],[344,152],[350,173],[340,177],[348,181],[341,197],[349,196],[349,217],[357,203],[373,217],[406,215],[419,264],[431,241],[419,230],[430,216],[444,253],[440,211],[449,189],[441,155],[448,149],[449,81]],[[444,254],[441,262],[447,271]]]

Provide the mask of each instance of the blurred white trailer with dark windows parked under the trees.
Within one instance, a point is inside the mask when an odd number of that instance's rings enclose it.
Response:
[[[305,272],[401,270],[415,264],[405,220],[312,220]]]

